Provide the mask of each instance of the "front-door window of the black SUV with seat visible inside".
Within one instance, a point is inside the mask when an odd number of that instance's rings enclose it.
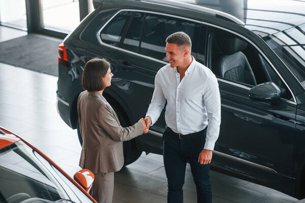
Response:
[[[208,67],[217,77],[248,87],[273,82],[283,98],[293,100],[285,83],[258,50],[227,31],[210,29]]]

